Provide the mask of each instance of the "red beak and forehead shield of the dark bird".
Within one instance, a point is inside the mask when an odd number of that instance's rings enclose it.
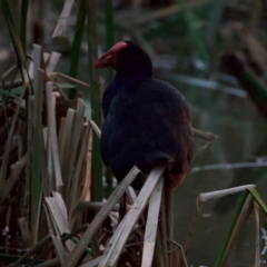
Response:
[[[100,57],[95,63],[95,68],[106,68],[111,67],[116,68],[117,62],[117,52],[127,47],[127,43],[123,41],[117,42],[110,50],[108,50],[102,57]]]

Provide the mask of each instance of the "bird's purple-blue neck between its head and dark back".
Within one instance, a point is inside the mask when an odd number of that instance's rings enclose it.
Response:
[[[110,108],[110,105],[113,100],[113,98],[122,90],[128,88],[129,86],[140,82],[144,80],[151,79],[151,76],[149,75],[121,75],[119,72],[116,73],[115,78],[110,81],[110,83],[107,86],[103,97],[102,97],[102,110],[103,110],[103,117],[106,118]]]

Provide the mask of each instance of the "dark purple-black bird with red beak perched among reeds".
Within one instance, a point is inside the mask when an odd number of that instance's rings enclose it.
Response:
[[[101,157],[120,182],[136,165],[145,175],[167,165],[165,182],[179,186],[191,164],[194,136],[188,103],[170,83],[152,78],[147,52],[134,41],[119,41],[95,68],[111,67],[113,79],[102,95]],[[142,186],[141,179],[131,184]]]

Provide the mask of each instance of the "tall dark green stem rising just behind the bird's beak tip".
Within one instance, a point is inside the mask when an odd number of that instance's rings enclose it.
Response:
[[[87,20],[89,75],[91,83],[91,117],[92,120],[100,127],[100,85],[98,75],[93,68],[98,57],[95,0],[87,0]],[[95,131],[92,135],[92,200],[102,201],[102,162],[100,157],[100,140]]]

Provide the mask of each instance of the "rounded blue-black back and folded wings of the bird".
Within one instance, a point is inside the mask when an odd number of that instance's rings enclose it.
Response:
[[[112,100],[102,127],[101,155],[118,180],[134,165],[145,174],[165,162],[184,171],[191,160],[191,150],[187,102],[167,82],[142,81]]]

